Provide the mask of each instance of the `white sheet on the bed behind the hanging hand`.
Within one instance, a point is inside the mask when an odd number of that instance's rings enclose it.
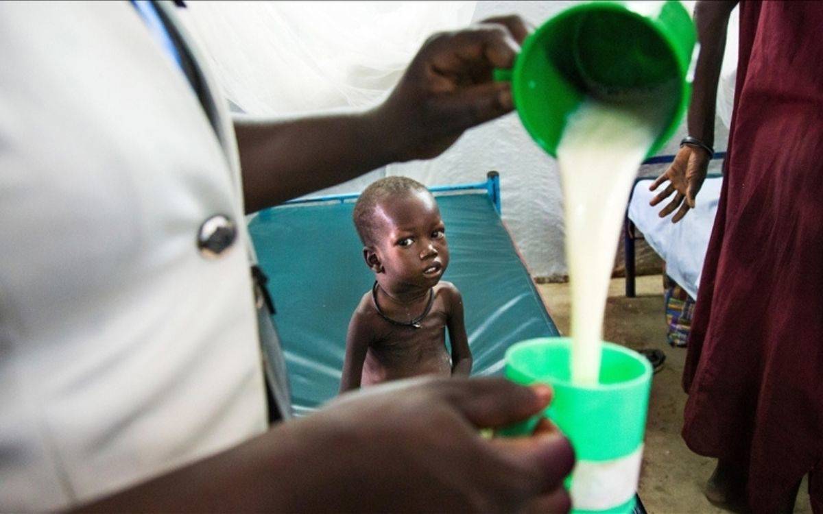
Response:
[[[667,201],[649,206],[649,201],[657,194],[649,191],[652,183],[653,180],[649,179],[635,184],[629,202],[629,219],[643,233],[649,246],[666,261],[666,274],[686,289],[691,298],[697,299],[723,178],[707,178],[696,197],[695,208],[677,223],[672,223],[673,214],[665,218],[658,216]],[[663,183],[657,191],[663,191],[667,185]]]

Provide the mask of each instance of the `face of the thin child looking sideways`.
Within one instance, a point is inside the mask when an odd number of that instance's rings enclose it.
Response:
[[[382,218],[375,252],[382,280],[431,287],[449,266],[449,244],[435,198],[428,192],[390,197],[374,214]]]

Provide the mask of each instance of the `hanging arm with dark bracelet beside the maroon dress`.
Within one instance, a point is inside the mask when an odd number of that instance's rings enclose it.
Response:
[[[689,135],[714,147],[714,111],[717,104],[718,79],[726,49],[728,16],[737,0],[702,1],[695,4],[695,25],[700,53],[695,67],[695,81],[692,88],[691,104],[686,124]],[[658,203],[675,193],[672,201],[660,211],[665,217],[675,210],[672,222],[677,223],[695,207],[695,197],[703,186],[709,160],[712,156],[700,146],[684,145],[677,152],[672,165],[652,183],[655,190],[669,181],[669,185],[652,198],[650,205]],[[684,201],[685,200],[685,201]]]

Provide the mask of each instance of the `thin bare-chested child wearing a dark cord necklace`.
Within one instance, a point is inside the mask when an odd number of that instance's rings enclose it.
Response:
[[[449,244],[435,197],[411,178],[382,178],[360,195],[354,222],[375,280],[351,316],[340,391],[417,375],[468,376],[463,299],[440,281]]]

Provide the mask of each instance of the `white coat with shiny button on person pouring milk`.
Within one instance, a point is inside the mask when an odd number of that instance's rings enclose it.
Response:
[[[0,2],[0,511],[77,505],[266,428],[216,105],[212,128],[128,2]],[[219,214],[239,234],[207,258]]]

